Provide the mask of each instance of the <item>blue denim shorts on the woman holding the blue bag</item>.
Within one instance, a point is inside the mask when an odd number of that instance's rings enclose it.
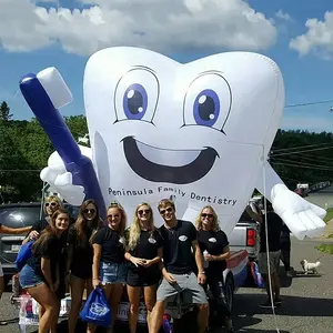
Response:
[[[103,285],[125,283],[128,275],[128,266],[125,263],[100,263],[100,281]]]

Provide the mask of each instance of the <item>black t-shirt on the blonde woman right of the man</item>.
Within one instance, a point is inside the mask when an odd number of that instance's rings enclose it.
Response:
[[[223,253],[225,246],[229,245],[226,234],[222,231],[204,231],[198,232],[198,242],[201,252],[206,251],[209,254],[219,255]],[[226,269],[226,261],[210,261],[206,271],[213,274],[221,274]]]

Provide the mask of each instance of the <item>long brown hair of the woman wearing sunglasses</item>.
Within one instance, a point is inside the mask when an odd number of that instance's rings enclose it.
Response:
[[[91,223],[91,228],[92,228],[92,233],[89,240],[87,240],[87,220],[84,219],[84,210],[87,209],[87,206],[89,204],[93,204],[94,209],[95,209],[95,218],[93,219],[92,223]],[[92,199],[85,200],[81,206],[80,206],[80,212],[78,215],[78,219],[74,223],[74,229],[77,231],[78,238],[77,238],[77,243],[79,246],[84,248],[87,245],[87,242],[91,241],[92,236],[95,234],[97,230],[101,226],[101,219],[100,219],[100,214],[99,214],[99,209],[95,204],[95,202]]]

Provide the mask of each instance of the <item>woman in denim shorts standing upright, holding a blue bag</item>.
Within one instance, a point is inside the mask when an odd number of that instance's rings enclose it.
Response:
[[[105,292],[112,311],[112,332],[127,279],[124,263],[127,215],[123,208],[119,203],[111,203],[108,208],[107,220],[108,225],[102,226],[92,239],[92,285],[93,287],[101,285]]]

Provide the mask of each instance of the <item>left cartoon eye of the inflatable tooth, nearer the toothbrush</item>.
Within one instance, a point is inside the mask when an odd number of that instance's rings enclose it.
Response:
[[[127,72],[114,91],[117,121],[141,120],[153,122],[160,84],[153,71],[135,68]]]

